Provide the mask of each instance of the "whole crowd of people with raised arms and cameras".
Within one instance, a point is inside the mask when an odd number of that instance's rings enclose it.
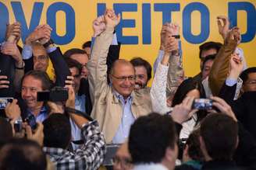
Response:
[[[37,26],[23,47],[20,23],[7,26],[0,170],[256,169],[256,68],[238,47],[240,29],[218,16],[223,42],[201,44],[201,72],[187,78],[179,25],[162,26],[152,67],[119,59],[120,19],[107,9],[91,41],[63,54],[50,26]],[[108,144],[119,148],[104,167]]]

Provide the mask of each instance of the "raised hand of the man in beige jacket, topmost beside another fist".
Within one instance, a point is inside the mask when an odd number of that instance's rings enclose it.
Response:
[[[106,22],[106,27],[115,28],[120,23],[121,15],[119,14],[118,16],[116,16],[113,9],[107,9],[105,11],[104,18]]]

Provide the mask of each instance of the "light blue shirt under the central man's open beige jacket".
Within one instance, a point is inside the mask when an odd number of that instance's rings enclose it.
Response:
[[[129,137],[130,126],[135,121],[133,116],[131,106],[133,102],[133,97],[129,96],[126,100],[123,99],[123,95],[119,95],[117,92],[114,92],[116,97],[122,103],[123,106],[123,113],[122,113],[122,120],[119,124],[119,128],[116,132],[115,137],[112,140],[113,144],[122,144],[126,141],[126,138]]]

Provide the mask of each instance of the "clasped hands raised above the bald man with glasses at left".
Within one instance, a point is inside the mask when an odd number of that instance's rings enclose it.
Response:
[[[37,26],[33,33],[30,33],[25,40],[27,45],[31,45],[36,40],[39,40],[41,44],[48,42],[51,39],[52,28],[48,25]]]

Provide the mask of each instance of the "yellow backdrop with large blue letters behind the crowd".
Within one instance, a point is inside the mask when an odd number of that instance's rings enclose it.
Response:
[[[199,71],[199,45],[209,40],[222,42],[216,19],[219,15],[229,16],[232,25],[240,27],[240,47],[248,66],[256,66],[255,6],[255,0],[1,0],[0,42],[5,36],[6,23],[22,24],[20,44],[37,25],[48,23],[53,29],[52,39],[65,52],[91,40],[92,21],[106,8],[113,8],[122,14],[116,30],[118,40],[123,43],[120,57],[128,60],[144,57],[153,64],[162,24],[179,23],[183,65],[186,75],[193,76]]]

